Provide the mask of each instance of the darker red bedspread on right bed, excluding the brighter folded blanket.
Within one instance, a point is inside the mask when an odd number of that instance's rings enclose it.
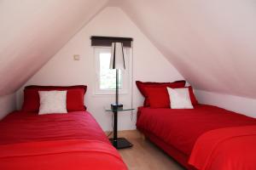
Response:
[[[222,127],[256,125],[256,119],[211,106],[195,105],[193,110],[140,108],[137,128],[150,132],[190,156],[201,134]]]

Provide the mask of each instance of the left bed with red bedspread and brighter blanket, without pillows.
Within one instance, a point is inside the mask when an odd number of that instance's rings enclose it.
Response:
[[[87,111],[38,116],[15,111],[0,122],[0,169],[127,169]]]

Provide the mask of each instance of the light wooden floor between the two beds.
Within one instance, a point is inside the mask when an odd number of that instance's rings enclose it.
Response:
[[[132,148],[119,150],[130,170],[183,170],[176,161],[167,156],[148,139],[143,139],[137,131],[121,131],[119,137],[125,137],[132,144]]]

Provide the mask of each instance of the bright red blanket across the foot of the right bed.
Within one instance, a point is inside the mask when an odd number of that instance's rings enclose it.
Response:
[[[197,139],[189,163],[200,170],[255,170],[256,125],[226,127]]]

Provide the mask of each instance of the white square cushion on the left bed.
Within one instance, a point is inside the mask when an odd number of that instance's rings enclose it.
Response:
[[[67,91],[39,91],[39,115],[67,113]]]

